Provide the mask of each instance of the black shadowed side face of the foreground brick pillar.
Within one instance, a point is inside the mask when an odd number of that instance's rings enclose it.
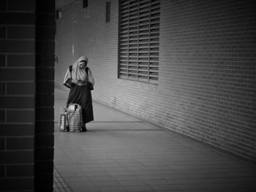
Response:
[[[53,191],[55,26],[55,1],[37,1],[35,191]]]

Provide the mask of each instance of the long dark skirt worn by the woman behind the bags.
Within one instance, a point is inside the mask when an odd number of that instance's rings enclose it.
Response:
[[[89,123],[91,120],[94,120],[91,91],[89,91],[86,86],[79,86],[75,83],[71,84],[67,104],[72,103],[82,106],[83,123]]]

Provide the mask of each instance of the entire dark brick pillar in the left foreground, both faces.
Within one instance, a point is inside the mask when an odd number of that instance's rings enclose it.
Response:
[[[0,2],[0,191],[53,189],[54,4]]]

